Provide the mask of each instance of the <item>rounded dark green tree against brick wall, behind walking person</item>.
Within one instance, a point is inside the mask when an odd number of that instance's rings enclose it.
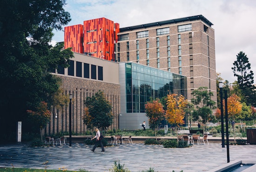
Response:
[[[88,128],[106,129],[113,122],[111,103],[105,97],[103,91],[99,90],[92,97],[87,97],[84,101],[85,113],[83,117],[84,124]]]

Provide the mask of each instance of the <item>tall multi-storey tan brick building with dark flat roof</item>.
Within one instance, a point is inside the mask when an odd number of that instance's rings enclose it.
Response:
[[[201,86],[216,99],[213,24],[202,15],[120,28],[117,60],[132,61],[187,77],[188,99]]]

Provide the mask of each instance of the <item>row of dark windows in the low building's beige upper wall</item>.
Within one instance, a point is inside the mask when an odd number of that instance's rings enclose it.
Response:
[[[74,76],[74,60],[70,60],[69,67],[67,68],[67,75]],[[82,71],[82,65],[84,66]],[[102,66],[96,66],[91,65],[88,63],[82,63],[79,61],[76,61],[76,71],[75,71],[76,77],[83,77],[88,79],[97,79],[97,73],[98,73],[98,80],[103,80],[103,67]],[[65,74],[64,67],[58,66],[57,73],[59,74]],[[91,76],[91,78],[90,78]]]

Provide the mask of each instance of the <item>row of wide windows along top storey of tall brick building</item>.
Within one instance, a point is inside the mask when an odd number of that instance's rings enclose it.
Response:
[[[185,32],[185,31],[191,31],[191,30],[192,30],[192,24],[178,26],[178,32]],[[206,30],[206,29],[204,29],[204,30]],[[165,34],[169,34],[169,33],[170,33],[169,27],[156,29],[156,35],[165,35]],[[136,32],[136,36],[137,36],[137,38],[148,37],[148,30]],[[129,40],[129,34],[127,33],[127,34],[118,35],[118,40]]]

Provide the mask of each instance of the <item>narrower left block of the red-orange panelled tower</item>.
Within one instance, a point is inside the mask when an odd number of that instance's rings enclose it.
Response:
[[[64,28],[64,48],[72,47],[72,51],[83,53],[83,25]]]

